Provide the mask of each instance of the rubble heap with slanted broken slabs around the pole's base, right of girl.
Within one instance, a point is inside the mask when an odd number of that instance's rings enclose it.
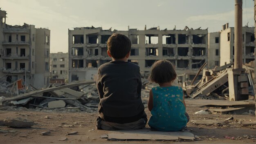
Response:
[[[202,79],[191,84],[183,83],[183,91],[186,97],[195,99],[229,100],[228,70],[233,69],[233,63],[216,66],[214,69],[200,69]],[[244,64],[245,77],[249,81],[249,95],[254,95],[254,67],[252,64]],[[200,72],[199,71],[199,72]],[[197,75],[194,79],[196,79]]]

